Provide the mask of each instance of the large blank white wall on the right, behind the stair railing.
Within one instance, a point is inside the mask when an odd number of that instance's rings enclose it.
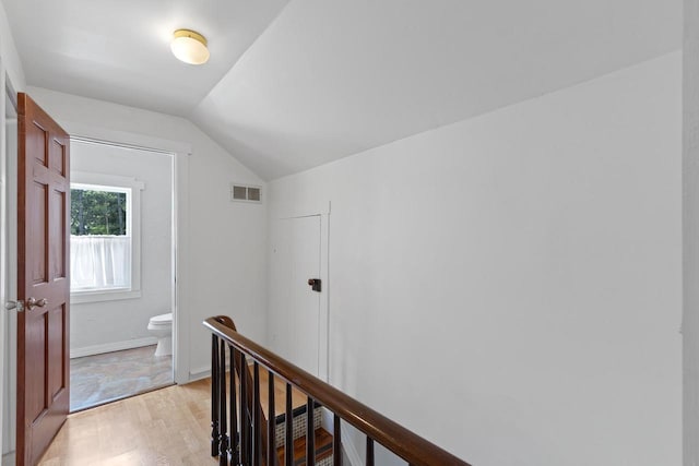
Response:
[[[269,188],[332,202],[331,383],[479,466],[679,464],[679,52]]]

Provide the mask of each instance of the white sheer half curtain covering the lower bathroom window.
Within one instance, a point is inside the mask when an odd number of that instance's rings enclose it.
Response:
[[[71,290],[131,287],[131,238],[70,237]]]

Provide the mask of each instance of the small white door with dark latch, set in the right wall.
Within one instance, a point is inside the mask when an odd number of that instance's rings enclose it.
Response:
[[[270,328],[272,349],[319,375],[321,291],[321,218],[319,215],[276,222],[272,232]]]

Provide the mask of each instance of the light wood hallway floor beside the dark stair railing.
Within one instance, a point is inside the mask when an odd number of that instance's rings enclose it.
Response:
[[[266,413],[266,373],[260,402]],[[285,383],[275,380],[275,411]],[[294,408],[306,404],[298,391]],[[216,465],[211,452],[211,379],[174,385],[72,414],[39,462],[43,466]]]

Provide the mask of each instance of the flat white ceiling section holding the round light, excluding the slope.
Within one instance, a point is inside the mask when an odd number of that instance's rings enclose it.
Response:
[[[286,0],[2,0],[31,85],[187,117]],[[205,67],[173,31],[209,40]]]

